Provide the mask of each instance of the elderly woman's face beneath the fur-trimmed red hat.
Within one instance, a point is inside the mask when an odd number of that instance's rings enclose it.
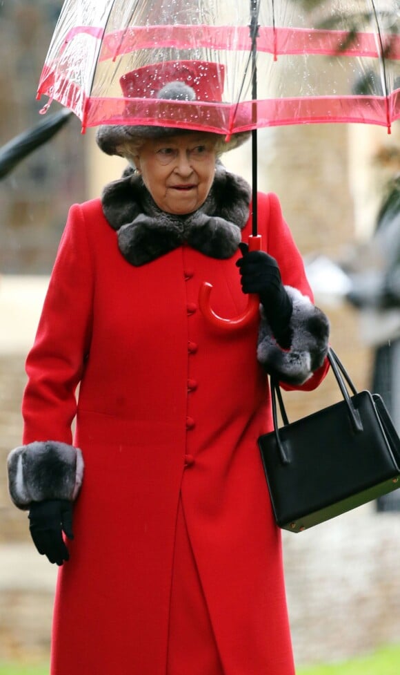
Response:
[[[194,132],[149,139],[134,163],[159,209],[183,216],[206,201],[216,158],[212,136]]]

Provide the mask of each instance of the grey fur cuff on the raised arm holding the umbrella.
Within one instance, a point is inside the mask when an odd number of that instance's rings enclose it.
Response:
[[[282,350],[274,340],[270,325],[261,306],[261,325],[257,358],[268,374],[280,381],[299,386],[321,367],[328,353],[329,321],[323,312],[315,307],[310,298],[299,290],[286,286],[293,303],[290,318],[292,345]]]

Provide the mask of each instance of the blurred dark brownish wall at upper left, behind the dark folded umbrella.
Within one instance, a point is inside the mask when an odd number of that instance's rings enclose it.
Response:
[[[62,0],[0,2],[0,146],[43,121],[37,85]],[[59,111],[53,103],[47,115]],[[70,204],[85,194],[86,137],[70,117],[0,179],[0,274],[50,272]]]

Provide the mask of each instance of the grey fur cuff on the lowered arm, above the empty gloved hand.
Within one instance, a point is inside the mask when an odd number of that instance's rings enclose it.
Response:
[[[14,448],[8,455],[10,497],[23,510],[32,502],[73,501],[82,479],[81,450],[66,443],[34,441]]]

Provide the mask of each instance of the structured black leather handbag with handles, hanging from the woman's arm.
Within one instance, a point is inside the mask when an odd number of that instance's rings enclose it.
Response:
[[[275,520],[290,532],[400,487],[400,439],[383,400],[379,394],[357,392],[332,349],[328,359],[343,401],[291,424],[279,383],[271,377],[274,430],[258,442]]]

